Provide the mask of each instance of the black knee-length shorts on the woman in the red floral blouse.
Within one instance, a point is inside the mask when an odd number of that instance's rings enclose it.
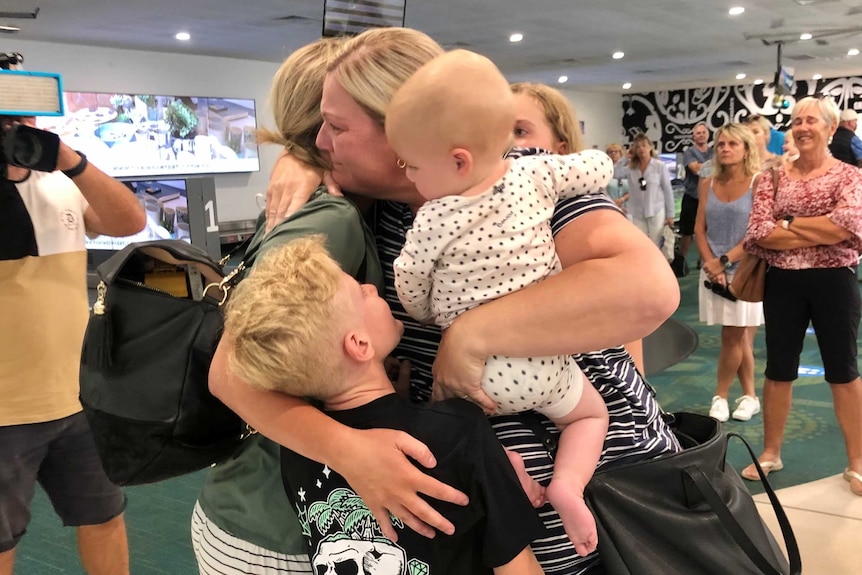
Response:
[[[859,377],[859,283],[855,267],[782,270],[769,268],[763,297],[766,377],[794,381],[808,323],[814,328],[829,383]]]

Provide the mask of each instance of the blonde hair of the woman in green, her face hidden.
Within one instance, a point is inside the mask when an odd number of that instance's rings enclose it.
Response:
[[[269,107],[278,129],[258,130],[258,142],[284,146],[312,166],[328,166],[314,140],[323,123],[320,116],[323,79],[344,44],[342,38],[321,38],[296,50],[282,62],[269,92]]]

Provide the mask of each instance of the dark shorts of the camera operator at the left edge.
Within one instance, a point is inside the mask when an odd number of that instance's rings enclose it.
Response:
[[[0,553],[27,530],[37,481],[66,526],[100,525],[126,507],[123,491],[102,469],[83,412],[0,427]]]

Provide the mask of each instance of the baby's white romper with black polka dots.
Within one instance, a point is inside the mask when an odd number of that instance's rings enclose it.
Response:
[[[483,194],[427,202],[394,264],[405,309],[445,329],[464,311],[559,272],[554,205],[600,191],[612,176],[610,158],[598,150],[527,156]],[[482,384],[500,413],[535,409],[553,419],[577,405],[582,375],[568,356],[493,356]]]

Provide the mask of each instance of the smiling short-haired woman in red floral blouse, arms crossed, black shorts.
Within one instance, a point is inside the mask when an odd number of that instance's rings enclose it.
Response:
[[[838,116],[829,97],[796,103],[790,129],[798,156],[778,169],[778,189],[771,177],[761,178],[745,250],[769,264],[763,294],[766,378],[760,465],[766,472],[784,467],[784,426],[810,323],[844,436],[844,479],[862,496],[862,380],[856,344],[862,315],[856,276],[862,250],[862,172],[829,153]],[[742,476],[756,480],[757,470],[749,465]]]

